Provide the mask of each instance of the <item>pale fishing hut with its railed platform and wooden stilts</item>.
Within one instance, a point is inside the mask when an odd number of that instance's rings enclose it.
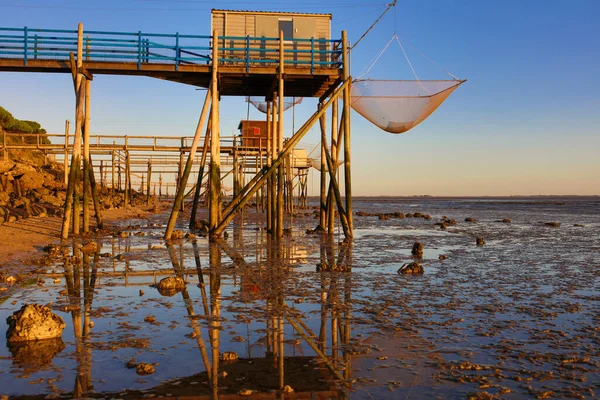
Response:
[[[335,204],[344,234],[352,237],[352,179],[350,172],[350,81],[346,32],[341,40],[330,35],[331,14],[298,14],[276,12],[246,12],[213,10],[213,42],[210,59],[211,79],[199,118],[196,135],[188,155],[167,229],[170,239],[178,216],[185,185],[191,170],[191,160],[208,120],[205,154],[208,163],[209,232],[218,237],[257,192],[264,198],[266,228],[274,237],[282,237],[286,224],[286,204],[291,204],[290,168],[294,166],[294,150],[300,140],[317,123],[322,131],[322,153],[332,163],[329,171],[330,204]],[[222,34],[221,34],[222,33]],[[262,126],[264,143],[260,140],[256,165],[260,169],[241,185],[234,173],[234,196],[223,205],[221,198],[221,169],[219,149],[219,99],[221,96],[261,97],[264,99],[265,120]],[[284,109],[286,97],[319,98],[317,110],[291,137],[285,138]],[[340,105],[341,104],[341,107]],[[330,112],[332,140],[335,151],[327,146],[327,113]],[[242,123],[243,125],[243,123]],[[242,138],[244,132],[242,128]],[[262,135],[261,135],[262,139]],[[243,139],[242,139],[243,140]],[[208,146],[208,143],[210,145]],[[243,146],[242,146],[243,148]],[[344,197],[336,178],[337,159],[344,149]],[[204,150],[204,149],[203,149]],[[236,154],[236,156],[239,155]],[[235,159],[235,158],[234,158]],[[236,162],[234,161],[234,165]],[[336,167],[333,167],[333,165]],[[201,165],[203,165],[201,163]],[[201,167],[203,168],[203,167]],[[234,166],[234,170],[238,170]],[[287,171],[286,171],[287,170]],[[199,179],[202,173],[198,174]],[[287,177],[287,178],[286,178]],[[301,178],[306,189],[306,177]],[[198,182],[196,190],[201,186]],[[304,192],[306,194],[306,192]],[[331,215],[326,195],[322,194],[323,215]],[[306,196],[305,196],[306,197]],[[334,203],[335,202],[335,203]],[[190,226],[195,223],[198,198],[195,196]],[[287,207],[288,211],[290,207]],[[321,224],[321,226],[325,226]]]

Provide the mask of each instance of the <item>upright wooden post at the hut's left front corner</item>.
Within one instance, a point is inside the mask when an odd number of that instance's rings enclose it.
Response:
[[[217,30],[213,31],[212,40],[212,109],[211,109],[211,135],[210,135],[210,196],[208,225],[211,234],[219,225],[221,214],[221,134],[219,132],[219,36]]]

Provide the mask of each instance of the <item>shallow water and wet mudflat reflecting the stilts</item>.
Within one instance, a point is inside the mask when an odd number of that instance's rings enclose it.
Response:
[[[598,209],[594,198],[356,199],[355,211],[432,219],[356,216],[351,246],[306,235],[311,217],[296,219],[301,228],[280,245],[251,218],[223,241],[168,247],[156,221],[135,221],[126,230],[145,236],[100,240],[98,253],[111,257],[58,259],[34,276],[42,286],[0,304],[4,320],[24,303],[52,302],[67,324],[62,345],[0,346],[0,394],[275,397],[289,385],[289,398],[594,397]],[[442,216],[456,226],[441,231]],[[512,222],[495,222],[504,218]],[[551,221],[561,227],[543,224]],[[397,274],[416,241],[424,275]],[[150,287],[169,275],[186,289]],[[219,361],[228,351],[239,359]],[[155,373],[137,375],[125,366],[132,358]]]

